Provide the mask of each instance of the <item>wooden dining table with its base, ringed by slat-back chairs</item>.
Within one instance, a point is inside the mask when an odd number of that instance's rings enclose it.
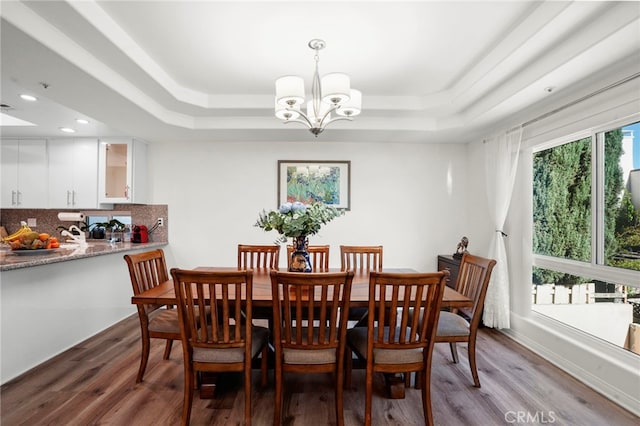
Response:
[[[199,266],[195,268],[198,271],[237,271],[237,267],[219,267],[219,266]],[[338,268],[329,268],[321,272],[340,272]],[[417,272],[411,268],[384,268],[382,272],[397,272],[397,273],[415,273]],[[301,272],[304,273],[304,272]],[[254,318],[260,318],[259,315],[255,315],[260,311],[256,308],[272,308],[271,296],[271,270],[268,268],[256,268],[253,269],[253,289],[252,289],[252,303],[254,307]],[[387,296],[390,298],[392,292],[387,292]],[[169,279],[158,286],[144,291],[137,296],[131,298],[133,304],[157,304],[157,305],[175,305],[176,294],[173,286],[173,280]],[[351,307],[368,307],[369,306],[369,273],[356,271],[353,276],[353,282],[351,284],[351,297],[349,298],[349,305]],[[444,287],[444,294],[442,297],[443,308],[464,308],[472,307],[473,300],[465,295],[457,292],[449,286]],[[266,309],[262,309],[264,312]],[[267,310],[268,311],[268,310]],[[268,311],[270,312],[270,311]],[[200,398],[210,399],[215,395],[217,377],[215,375],[203,377],[200,387]],[[404,380],[399,380],[396,377],[385,375],[385,382],[387,388],[387,394],[390,398],[404,398]]]

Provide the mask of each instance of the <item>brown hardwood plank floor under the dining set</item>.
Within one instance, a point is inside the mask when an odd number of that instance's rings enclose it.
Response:
[[[135,383],[140,356],[137,316],[18,377],[1,389],[2,426],[12,425],[175,425],[182,407],[182,348],[162,360],[164,344],[152,341],[144,382]],[[613,404],[540,357],[490,329],[478,336],[482,388],[473,387],[460,345],[460,363],[449,347],[436,345],[433,359],[433,417],[438,425],[637,425],[640,419]],[[253,380],[253,424],[270,425],[273,377],[260,388]],[[386,399],[382,377],[374,389],[375,425],[422,424],[420,391],[408,389],[402,400]],[[362,424],[364,371],[354,370],[345,391],[345,424]],[[285,382],[283,424],[334,424],[333,385],[329,375],[289,375]],[[192,425],[240,424],[243,389],[239,375],[228,375],[216,399],[196,395]],[[520,416],[520,417],[518,417]]]

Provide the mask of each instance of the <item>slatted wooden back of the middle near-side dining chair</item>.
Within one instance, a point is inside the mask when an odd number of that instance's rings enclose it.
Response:
[[[274,341],[277,350],[337,348],[340,333],[346,331],[347,316],[342,313],[345,312],[343,309],[349,308],[352,280],[352,271],[272,271]]]

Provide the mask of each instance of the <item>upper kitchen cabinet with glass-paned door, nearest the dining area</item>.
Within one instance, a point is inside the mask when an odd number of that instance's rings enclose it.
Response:
[[[147,201],[147,144],[137,139],[100,140],[98,202]]]

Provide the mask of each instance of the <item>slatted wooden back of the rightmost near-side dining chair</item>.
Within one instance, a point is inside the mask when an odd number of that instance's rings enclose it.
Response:
[[[447,271],[370,273],[369,312],[375,314],[368,319],[368,356],[374,349],[426,348],[433,343],[448,275]],[[427,314],[412,315],[421,309]]]

